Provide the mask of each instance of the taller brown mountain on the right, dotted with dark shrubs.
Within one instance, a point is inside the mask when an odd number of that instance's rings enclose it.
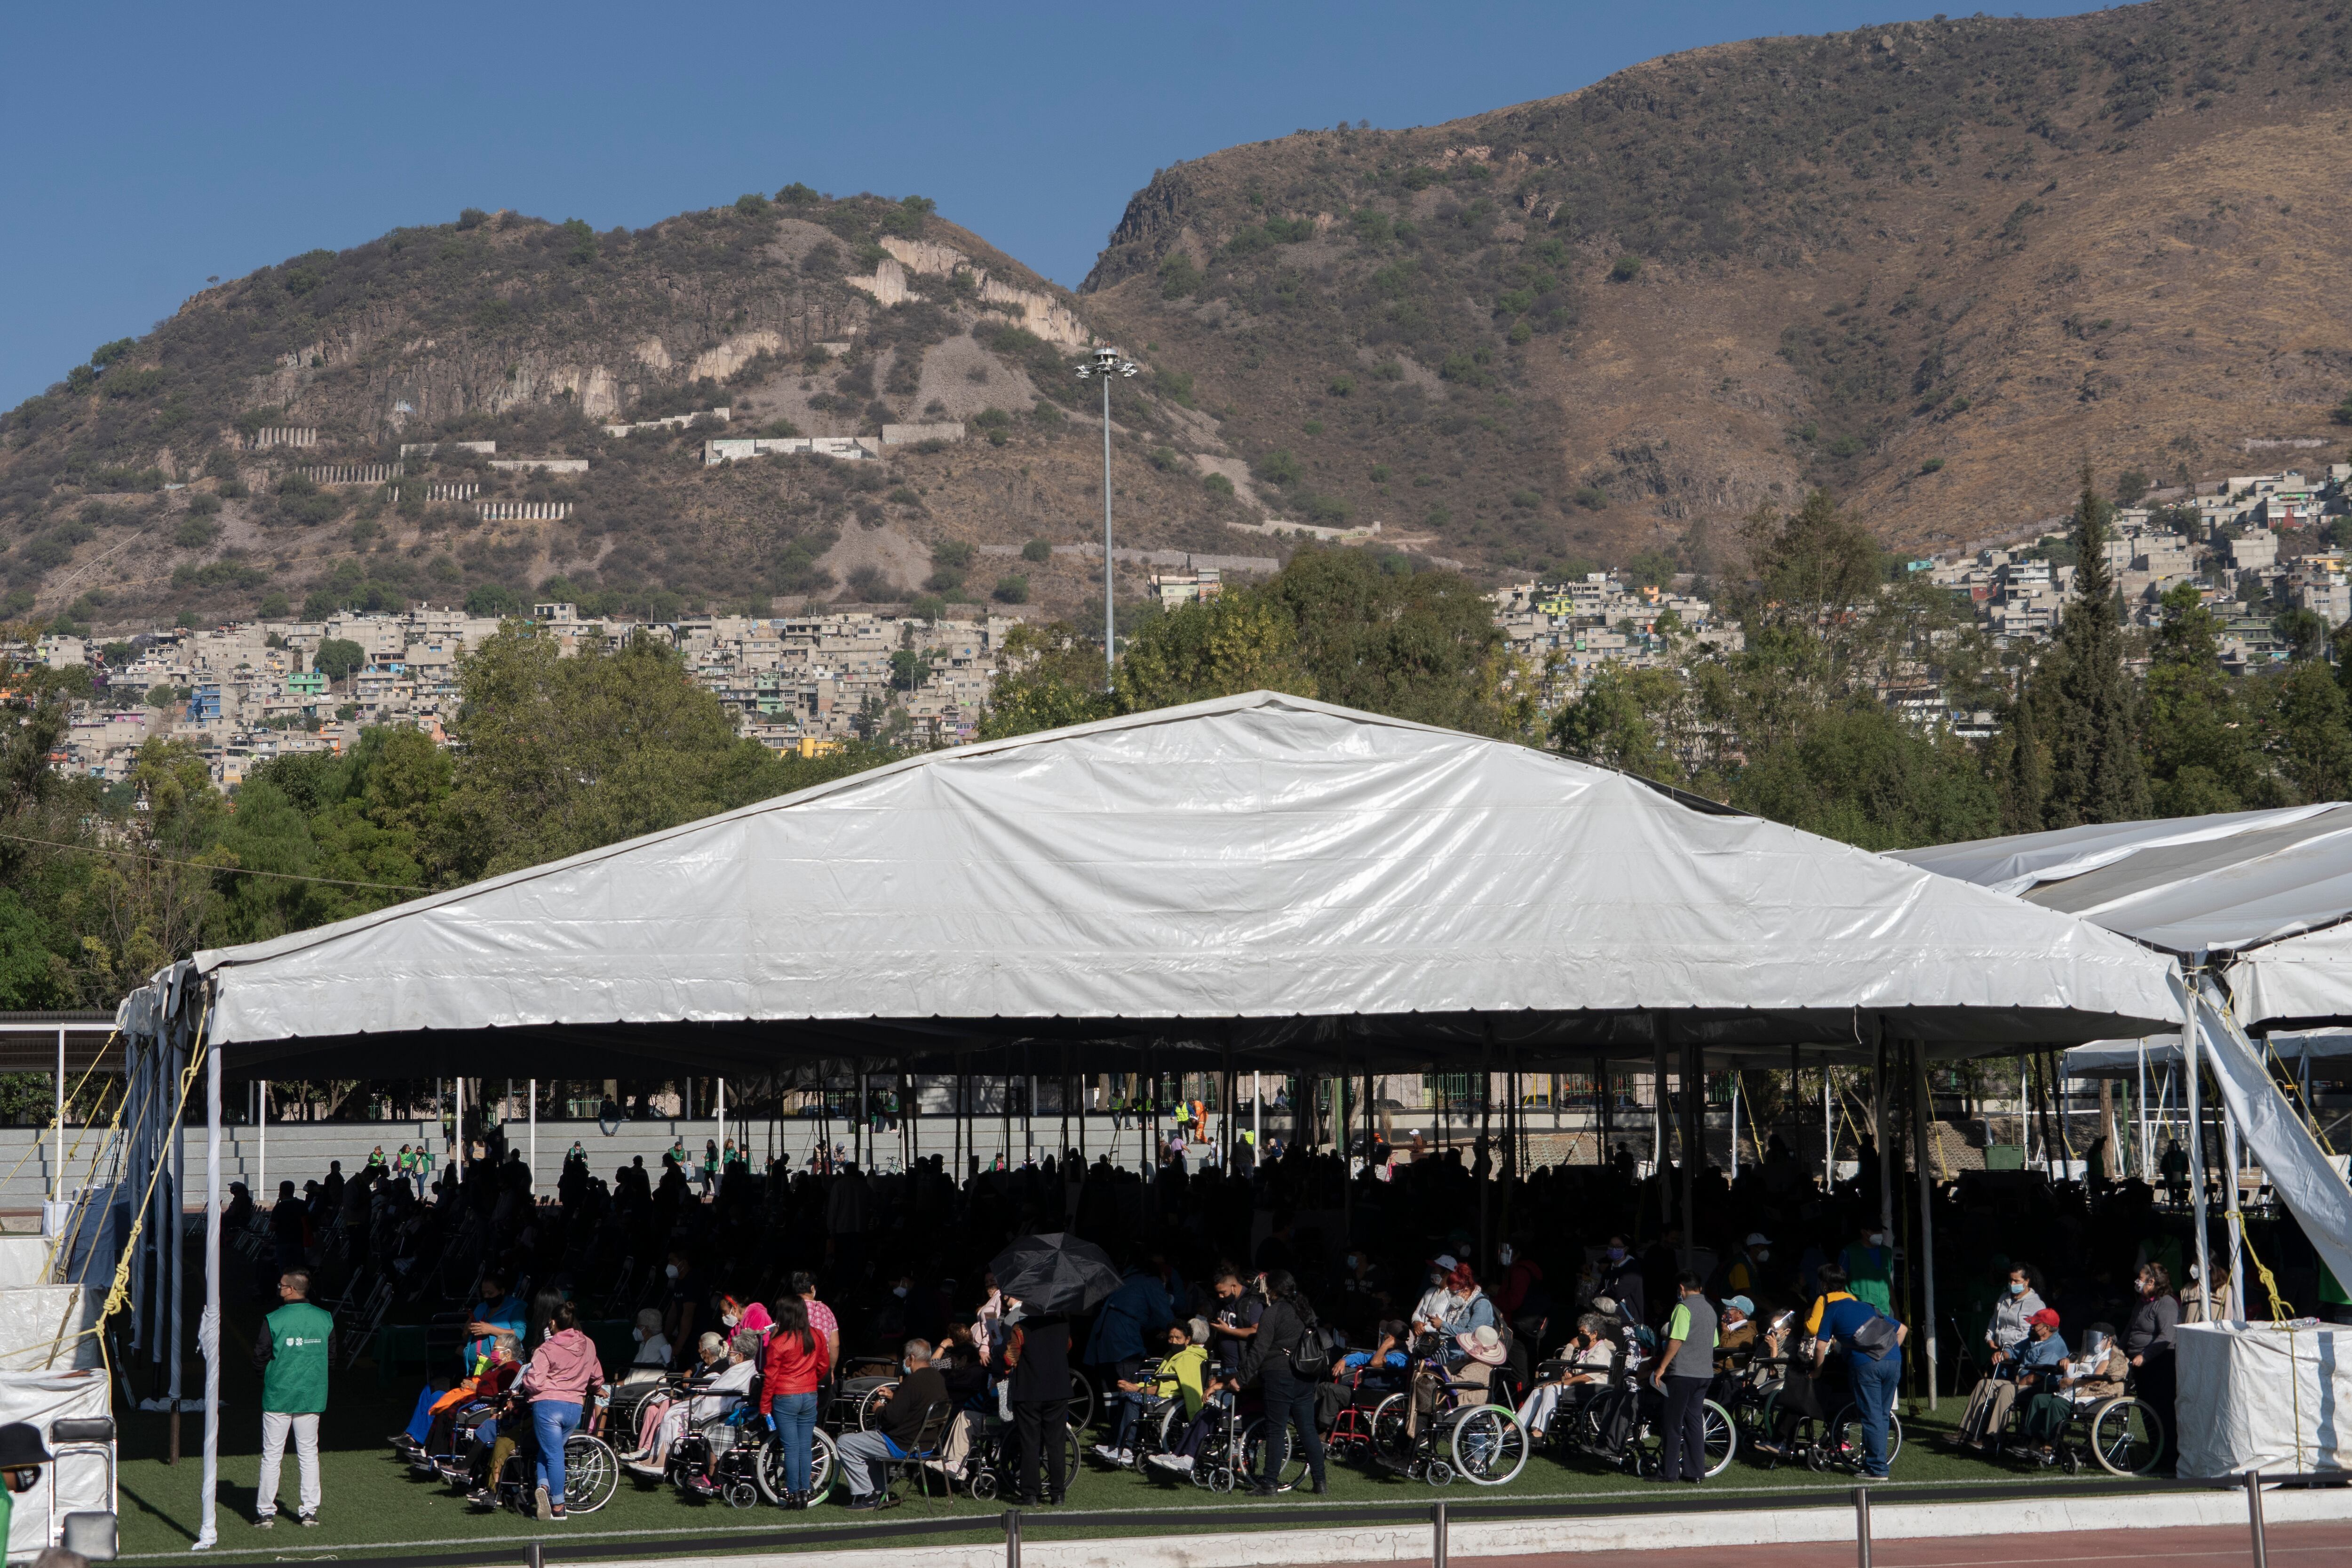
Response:
[[[1893,543],[2074,473],[2343,456],[2352,16],[2159,0],[1649,61],[1162,169],[1084,284],[1284,498],[1491,564],[1724,555],[1825,484]]]

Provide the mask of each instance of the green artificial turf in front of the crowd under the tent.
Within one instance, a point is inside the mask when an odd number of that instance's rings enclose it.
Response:
[[[913,1519],[969,1516],[974,1530],[924,1535],[913,1544],[950,1544],[957,1540],[1002,1540],[997,1502],[971,1502],[957,1495],[953,1502],[908,1500],[884,1514],[854,1514],[835,1502],[804,1514],[786,1514],[774,1507],[731,1509],[724,1502],[694,1502],[680,1497],[670,1486],[654,1486],[633,1476],[621,1479],[621,1490],[597,1514],[576,1516],[564,1523],[539,1523],[510,1512],[480,1514],[447,1486],[414,1479],[386,1446],[386,1434],[407,1422],[414,1389],[395,1392],[379,1385],[374,1368],[360,1366],[336,1380],[332,1408],[322,1425],[325,1505],[320,1526],[303,1530],[294,1523],[296,1467],[287,1453],[280,1481],[280,1521],[275,1530],[256,1530],[254,1483],[259,1474],[261,1418],[259,1380],[245,1371],[235,1356],[226,1378],[223,1425],[221,1425],[221,1540],[219,1549],[202,1561],[221,1559],[301,1559],[301,1556],[365,1556],[409,1552],[463,1552],[496,1542],[520,1544],[529,1537],[564,1540],[574,1547],[597,1542],[612,1554],[661,1552],[666,1537],[710,1537],[722,1533],[776,1535],[795,1530],[821,1530],[823,1526],[903,1523]],[[1959,1415],[1959,1401],[1943,1401],[1940,1420],[1924,1410],[1905,1420],[1910,1441],[1896,1460],[1896,1483],[2018,1483],[2053,1472],[2023,1467],[2016,1462],[1962,1458],[1926,1441],[1936,1432],[1947,1432]],[[125,1418],[122,1434],[122,1554],[129,1559],[169,1559],[188,1552],[198,1523],[198,1486],[202,1465],[202,1418],[181,1418],[183,1458],[179,1465],[165,1462],[167,1418],[134,1413]],[[2063,1474],[2063,1472],[2060,1472]],[[1070,1509],[1150,1509],[1160,1519],[1138,1519],[1122,1526],[1087,1526],[1084,1535],[1167,1533],[1188,1528],[1183,1514],[1204,1509],[1263,1509],[1268,1526],[1310,1526],[1331,1507],[1345,1505],[1477,1505],[1477,1502],[1566,1502],[1599,1500],[1611,1495],[1656,1497],[1672,1495],[1752,1495],[1759,1505],[1802,1493],[1844,1493],[1853,1486],[1844,1474],[1811,1474],[1802,1467],[1773,1472],[1752,1465],[1745,1453],[1703,1488],[1663,1488],[1637,1481],[1597,1460],[1559,1460],[1550,1453],[1529,1458],[1519,1479],[1503,1488],[1482,1488],[1456,1481],[1432,1488],[1425,1481],[1409,1481],[1395,1474],[1374,1474],[1359,1465],[1331,1465],[1331,1495],[1312,1500],[1303,1493],[1251,1502],[1247,1497],[1218,1497],[1188,1481],[1167,1483],[1131,1472],[1105,1472],[1087,1462],[1070,1486]],[[1023,1533],[1051,1537],[1068,1530],[1051,1526],[1054,1512],[1030,1512],[1023,1516]],[[1237,1528],[1228,1519],[1202,1519],[1192,1528]],[[818,1542],[811,1544],[856,1544]],[[882,1544],[882,1542],[873,1542]],[[743,1549],[776,1552],[776,1542],[746,1540]]]

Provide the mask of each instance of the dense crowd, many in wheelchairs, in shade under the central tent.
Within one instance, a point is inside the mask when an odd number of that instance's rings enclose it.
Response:
[[[654,1168],[633,1159],[607,1180],[574,1143],[553,1192],[534,1190],[520,1150],[437,1173],[383,1154],[348,1178],[336,1166],[301,1194],[280,1182],[261,1213],[235,1187],[228,1222],[268,1237],[256,1288],[308,1269],[318,1298],[341,1286],[348,1300],[355,1276],[374,1276],[395,1286],[395,1319],[463,1298],[463,1345],[428,1368],[419,1422],[395,1436],[402,1458],[445,1443],[435,1418],[466,1399],[496,1406],[520,1385],[579,1401],[661,1385],[628,1406],[626,1429],[607,1432],[633,1474],[673,1476],[670,1450],[694,1422],[750,1420],[802,1455],[790,1469],[802,1483],[779,1497],[788,1507],[823,1500],[804,1483],[807,1443],[851,1363],[901,1385],[875,1403],[870,1432],[835,1434],[835,1481],[847,1481],[851,1507],[887,1500],[887,1462],[915,1443],[931,1394],[960,1410],[957,1441],[924,1450],[936,1469],[953,1481],[976,1429],[1002,1425],[1018,1450],[1009,1495],[1061,1502],[1065,1368],[1103,1394],[1098,1429],[1070,1439],[1096,1465],[1181,1476],[1211,1415],[1240,1403],[1275,1425],[1270,1469],[1303,1450],[1315,1490],[1341,1413],[1423,1373],[1449,1399],[1508,1401],[1538,1443],[1611,1380],[1653,1380],[1668,1399],[1658,1476],[1686,1481],[1698,1479],[1698,1434],[1682,1425],[1677,1394],[1691,1406],[1724,1378],[1778,1368],[1799,1396],[1783,1399],[1783,1427],[1755,1443],[1764,1460],[1797,1413],[1860,1399],[1865,1385],[1884,1389],[1889,1408],[1898,1385],[1924,1392],[1917,1187],[1898,1168],[1896,1192],[1882,1197],[1889,1173],[1867,1135],[1853,1173],[1825,1185],[1766,1133],[1764,1159],[1738,1178],[1698,1171],[1689,1220],[1684,1173],[1668,1164],[1644,1175],[1628,1143],[1597,1164],[1524,1175],[1498,1168],[1498,1145],[1416,1152],[1374,1143],[1369,1159],[1343,1161],[1268,1145],[1228,1171],[1214,1145],[1162,1143],[1148,1180],[1075,1150],[997,1157],[995,1168],[974,1157],[955,1180],[941,1157],[870,1173],[833,1150],[818,1168],[755,1168],[713,1140],[701,1159],[675,1145]],[[2176,1154],[2166,1178],[2185,1164]],[[2072,1403],[2124,1387],[2173,1429],[2173,1335],[2201,1312],[2190,1218],[2169,1201],[2183,1194],[2107,1178],[2096,1145],[2086,1171],[2056,1187],[2018,1171],[1931,1190],[1943,1392],[1966,1401],[1955,1439],[1964,1448],[2046,1460]],[[1117,1260],[1122,1281],[1091,1312],[1025,1314],[995,1288],[988,1260],[1016,1237],[1051,1232]],[[2317,1269],[2291,1218],[2267,1218],[2256,1234],[2274,1269]],[[2216,1312],[2227,1316],[2218,1220],[2209,1248],[2220,1260]],[[595,1319],[630,1324],[626,1356],[597,1359]],[[1863,1366],[1884,1356],[1856,1349],[1872,1319],[1900,1333],[1891,1366]],[[1327,1354],[1303,1352],[1305,1335]],[[562,1375],[534,1385],[534,1366],[553,1361]],[[1190,1422],[1183,1441],[1138,1462],[1136,1415],[1171,1399]],[[489,1483],[517,1441],[532,1443],[532,1422],[492,1422],[452,1479],[492,1505]],[[1884,1422],[1877,1443],[1865,1476],[1884,1474]],[[1270,1486],[1263,1472],[1258,1486]],[[562,1516],[560,1460],[553,1507],[546,1479],[541,1469],[541,1512]],[[696,1476],[682,1488],[696,1490]]]

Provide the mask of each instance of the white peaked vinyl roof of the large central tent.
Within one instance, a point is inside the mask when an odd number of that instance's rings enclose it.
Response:
[[[1185,1037],[1536,1065],[2180,1016],[2169,959],[2067,914],[1277,693],[929,752],[195,969],[230,1067],[346,1072],[433,1041],[480,1070],[501,1041],[675,1065]]]

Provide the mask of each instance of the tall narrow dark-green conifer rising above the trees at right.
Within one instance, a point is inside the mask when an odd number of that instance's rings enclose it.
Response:
[[[2124,675],[2124,630],[2110,604],[2110,510],[2084,463],[2082,498],[2074,505],[2074,597],[2058,637],[2056,670],[2046,691],[2034,693],[2034,717],[2051,748],[2044,827],[2129,823],[2150,813],[2131,682]]]

